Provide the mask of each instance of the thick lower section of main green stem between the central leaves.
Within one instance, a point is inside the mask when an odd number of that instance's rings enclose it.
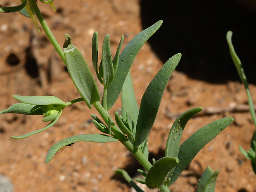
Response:
[[[93,104],[95,109],[99,112],[100,116],[102,116],[102,119],[105,121],[105,123],[108,123],[108,116],[109,113],[102,107],[100,102],[96,102]],[[112,132],[116,135],[116,139],[118,139],[132,154],[135,156],[135,158],[140,162],[140,164],[147,170],[152,167],[152,164],[148,161],[147,157],[142,154],[140,150],[138,150],[137,147],[134,147],[133,144],[127,140],[125,135],[119,130],[119,128],[115,125],[112,129]]]

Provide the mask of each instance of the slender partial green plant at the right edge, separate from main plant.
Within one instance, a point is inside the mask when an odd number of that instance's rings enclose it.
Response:
[[[242,83],[244,84],[244,88],[245,88],[245,91],[246,91],[246,94],[247,94],[247,97],[248,97],[251,119],[254,122],[254,125],[256,127],[256,116],[255,116],[254,104],[253,104],[252,99],[251,99],[251,94],[250,94],[247,78],[245,76],[242,63],[241,63],[239,57],[237,56],[237,54],[235,52],[235,49],[232,45],[231,38],[232,38],[232,31],[228,31],[227,41],[228,41],[228,46],[229,46],[229,50],[230,50],[230,55],[231,55],[232,60],[235,64],[235,67],[237,69],[239,77],[240,77]],[[239,145],[239,149],[242,152],[242,154],[247,159],[249,159],[251,161],[251,167],[252,167],[254,173],[256,174],[256,131],[254,131],[254,133],[251,137],[251,148],[249,149],[249,151],[245,152],[241,145]]]

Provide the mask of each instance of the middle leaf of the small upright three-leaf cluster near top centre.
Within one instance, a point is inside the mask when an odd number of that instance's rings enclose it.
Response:
[[[113,81],[115,74],[110,50],[109,34],[105,36],[102,45],[102,72],[104,85],[107,86]]]

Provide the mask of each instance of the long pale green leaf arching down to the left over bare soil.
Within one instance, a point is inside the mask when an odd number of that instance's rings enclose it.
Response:
[[[83,135],[74,135],[72,137],[65,138],[60,140],[59,142],[55,143],[47,152],[45,157],[45,163],[49,163],[53,156],[61,149],[62,147],[69,145],[71,143],[79,142],[79,141],[89,141],[89,142],[98,142],[98,143],[105,143],[105,142],[116,142],[117,139],[110,137],[108,135],[102,134],[83,134]]]

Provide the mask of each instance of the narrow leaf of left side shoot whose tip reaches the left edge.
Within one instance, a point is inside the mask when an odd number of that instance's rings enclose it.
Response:
[[[0,111],[0,114],[5,113],[16,113],[16,114],[24,114],[24,115],[42,115],[44,111],[40,106],[26,104],[26,103],[16,103],[13,104],[8,109],[4,109]]]

